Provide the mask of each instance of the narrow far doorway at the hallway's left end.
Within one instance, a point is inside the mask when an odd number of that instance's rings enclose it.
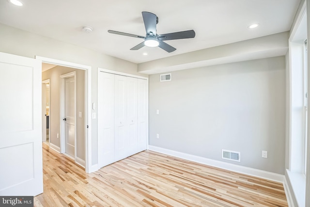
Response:
[[[49,79],[42,81],[42,142],[49,145],[50,137],[50,92]]]

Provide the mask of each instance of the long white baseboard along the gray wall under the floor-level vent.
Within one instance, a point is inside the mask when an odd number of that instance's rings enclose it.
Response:
[[[271,173],[271,172],[267,172],[267,171],[263,171],[263,170],[257,170],[254,168],[235,165],[235,164],[222,162],[222,161],[218,161],[218,160],[214,160],[214,159],[203,158],[203,157],[190,155],[190,154],[186,154],[183,152],[173,151],[170,149],[165,149],[165,148],[161,148],[161,147],[157,147],[157,146],[153,146],[153,145],[149,145],[148,150],[163,153],[166,155],[171,155],[171,156],[174,156],[177,158],[187,159],[187,160],[202,163],[205,165],[210,165],[213,167],[218,167],[218,168],[225,169],[225,170],[230,170],[230,171],[233,171],[236,173],[242,173],[242,174],[246,174],[246,175],[261,177],[264,179],[273,180],[273,181],[277,181],[280,183],[283,183],[283,181],[284,181],[284,175]]]

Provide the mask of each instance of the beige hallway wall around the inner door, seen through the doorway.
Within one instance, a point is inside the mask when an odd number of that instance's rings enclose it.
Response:
[[[77,130],[77,157],[85,161],[85,70],[70,67],[56,66],[42,73],[42,80],[50,79],[50,142],[60,147],[60,81],[61,75],[76,71],[76,130]],[[82,112],[82,118],[78,112]]]

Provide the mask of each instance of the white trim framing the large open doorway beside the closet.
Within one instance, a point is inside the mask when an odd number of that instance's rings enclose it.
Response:
[[[51,59],[47,57],[35,56],[35,59],[41,60],[42,63],[62,65],[65,67],[73,67],[86,70],[85,74],[85,171],[93,172],[92,166],[92,67],[83,64],[71,63]],[[88,126],[88,128],[87,128]]]

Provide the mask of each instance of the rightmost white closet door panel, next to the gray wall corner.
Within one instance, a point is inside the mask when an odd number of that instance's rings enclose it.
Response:
[[[148,131],[148,80],[138,79],[138,152],[146,150]]]

